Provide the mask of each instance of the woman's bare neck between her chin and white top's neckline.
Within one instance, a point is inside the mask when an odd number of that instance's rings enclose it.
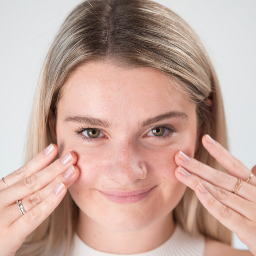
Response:
[[[172,236],[174,229],[172,212],[144,229],[120,233],[106,229],[80,211],[76,232],[84,243],[98,251],[136,254],[157,248]]]

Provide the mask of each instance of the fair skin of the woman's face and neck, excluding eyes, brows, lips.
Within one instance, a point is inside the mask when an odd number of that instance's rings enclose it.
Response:
[[[138,128],[147,118],[170,111],[187,117]],[[75,131],[86,124],[65,121],[69,116],[105,119],[112,127],[98,126],[102,137],[85,142],[84,135],[77,136]],[[153,125],[171,125],[176,132],[166,129],[171,136],[159,139],[151,131]],[[172,210],[186,189],[175,177],[174,157],[178,150],[194,155],[197,122],[194,103],[170,87],[160,72],[120,69],[108,63],[80,67],[61,92],[56,134],[60,155],[74,151],[78,156],[80,176],[69,192],[80,208],[78,234],[86,244],[130,254],[154,249],[170,237]],[[140,166],[148,172],[143,180]],[[125,204],[110,202],[98,191],[153,187],[145,199]]]

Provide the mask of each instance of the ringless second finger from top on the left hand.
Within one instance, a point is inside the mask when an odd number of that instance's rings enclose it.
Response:
[[[1,208],[14,204],[16,200],[35,193],[39,189],[44,188],[54,180],[60,173],[65,172],[69,166],[76,163],[77,157],[74,152],[68,152],[62,158],[57,159],[42,171],[25,178],[0,191]]]

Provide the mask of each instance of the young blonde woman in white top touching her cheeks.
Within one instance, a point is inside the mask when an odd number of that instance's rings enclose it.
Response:
[[[47,55],[26,164],[0,182],[1,255],[256,255],[256,171],[226,147],[218,80],[184,20],[86,1]]]

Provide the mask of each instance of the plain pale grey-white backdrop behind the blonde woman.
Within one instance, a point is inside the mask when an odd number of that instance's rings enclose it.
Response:
[[[256,1],[158,0],[202,39],[221,84],[230,152],[256,164]],[[77,0],[0,1],[0,178],[23,165],[26,129],[49,44]],[[233,246],[246,249],[234,235]]]

